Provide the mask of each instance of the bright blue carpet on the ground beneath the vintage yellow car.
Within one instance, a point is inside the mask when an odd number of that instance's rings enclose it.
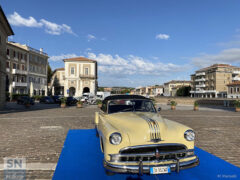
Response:
[[[191,169],[181,170],[179,173],[143,175],[141,177],[127,174],[107,176],[102,163],[103,154],[101,153],[99,139],[95,135],[95,130],[70,130],[64,143],[53,179],[240,179],[240,168],[199,148],[196,148],[195,153],[200,159],[200,165]]]

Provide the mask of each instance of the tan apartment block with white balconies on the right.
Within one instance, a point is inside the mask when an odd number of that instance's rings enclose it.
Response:
[[[240,80],[240,68],[228,64],[214,64],[191,75],[191,97],[227,97],[227,85]]]

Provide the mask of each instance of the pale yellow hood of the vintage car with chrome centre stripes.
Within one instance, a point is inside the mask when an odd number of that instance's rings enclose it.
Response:
[[[151,143],[166,137],[167,122],[156,113],[121,112],[107,118],[117,131],[128,135],[131,144]]]

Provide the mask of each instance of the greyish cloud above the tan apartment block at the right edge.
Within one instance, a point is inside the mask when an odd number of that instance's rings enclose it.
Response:
[[[216,63],[240,64],[240,48],[225,49],[218,54],[202,54],[191,58],[197,67],[206,67]]]

